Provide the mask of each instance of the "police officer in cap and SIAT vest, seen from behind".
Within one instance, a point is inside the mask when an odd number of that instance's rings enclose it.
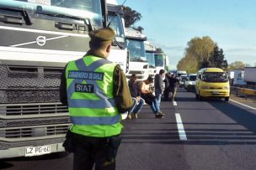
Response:
[[[67,102],[72,121],[63,147],[74,153],[73,169],[94,164],[95,169],[115,169],[120,113],[129,111],[133,100],[120,66],[107,60],[114,30],[100,28],[89,37],[88,53],[68,62],[61,77],[61,101]]]

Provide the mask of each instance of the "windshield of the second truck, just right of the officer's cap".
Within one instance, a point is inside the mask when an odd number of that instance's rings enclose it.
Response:
[[[125,31],[123,28],[122,19],[119,15],[115,15],[114,13],[109,13],[109,21],[111,21],[109,27],[115,30],[115,39],[121,43],[125,44]]]

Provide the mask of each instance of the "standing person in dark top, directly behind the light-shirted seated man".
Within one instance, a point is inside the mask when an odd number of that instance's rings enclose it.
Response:
[[[160,107],[161,97],[163,94],[163,76],[164,70],[159,70],[159,74],[155,75],[154,86],[155,86],[155,95],[158,101],[158,106]]]

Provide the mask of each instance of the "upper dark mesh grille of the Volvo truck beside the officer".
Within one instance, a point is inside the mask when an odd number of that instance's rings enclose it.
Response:
[[[0,103],[60,101],[63,68],[0,65]]]

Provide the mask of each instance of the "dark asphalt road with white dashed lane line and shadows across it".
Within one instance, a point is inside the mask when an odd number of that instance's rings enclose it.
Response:
[[[163,119],[144,106],[138,119],[123,121],[117,170],[256,168],[255,102],[198,101],[184,89],[175,100],[162,101]],[[72,154],[6,159],[0,168],[72,169]]]

